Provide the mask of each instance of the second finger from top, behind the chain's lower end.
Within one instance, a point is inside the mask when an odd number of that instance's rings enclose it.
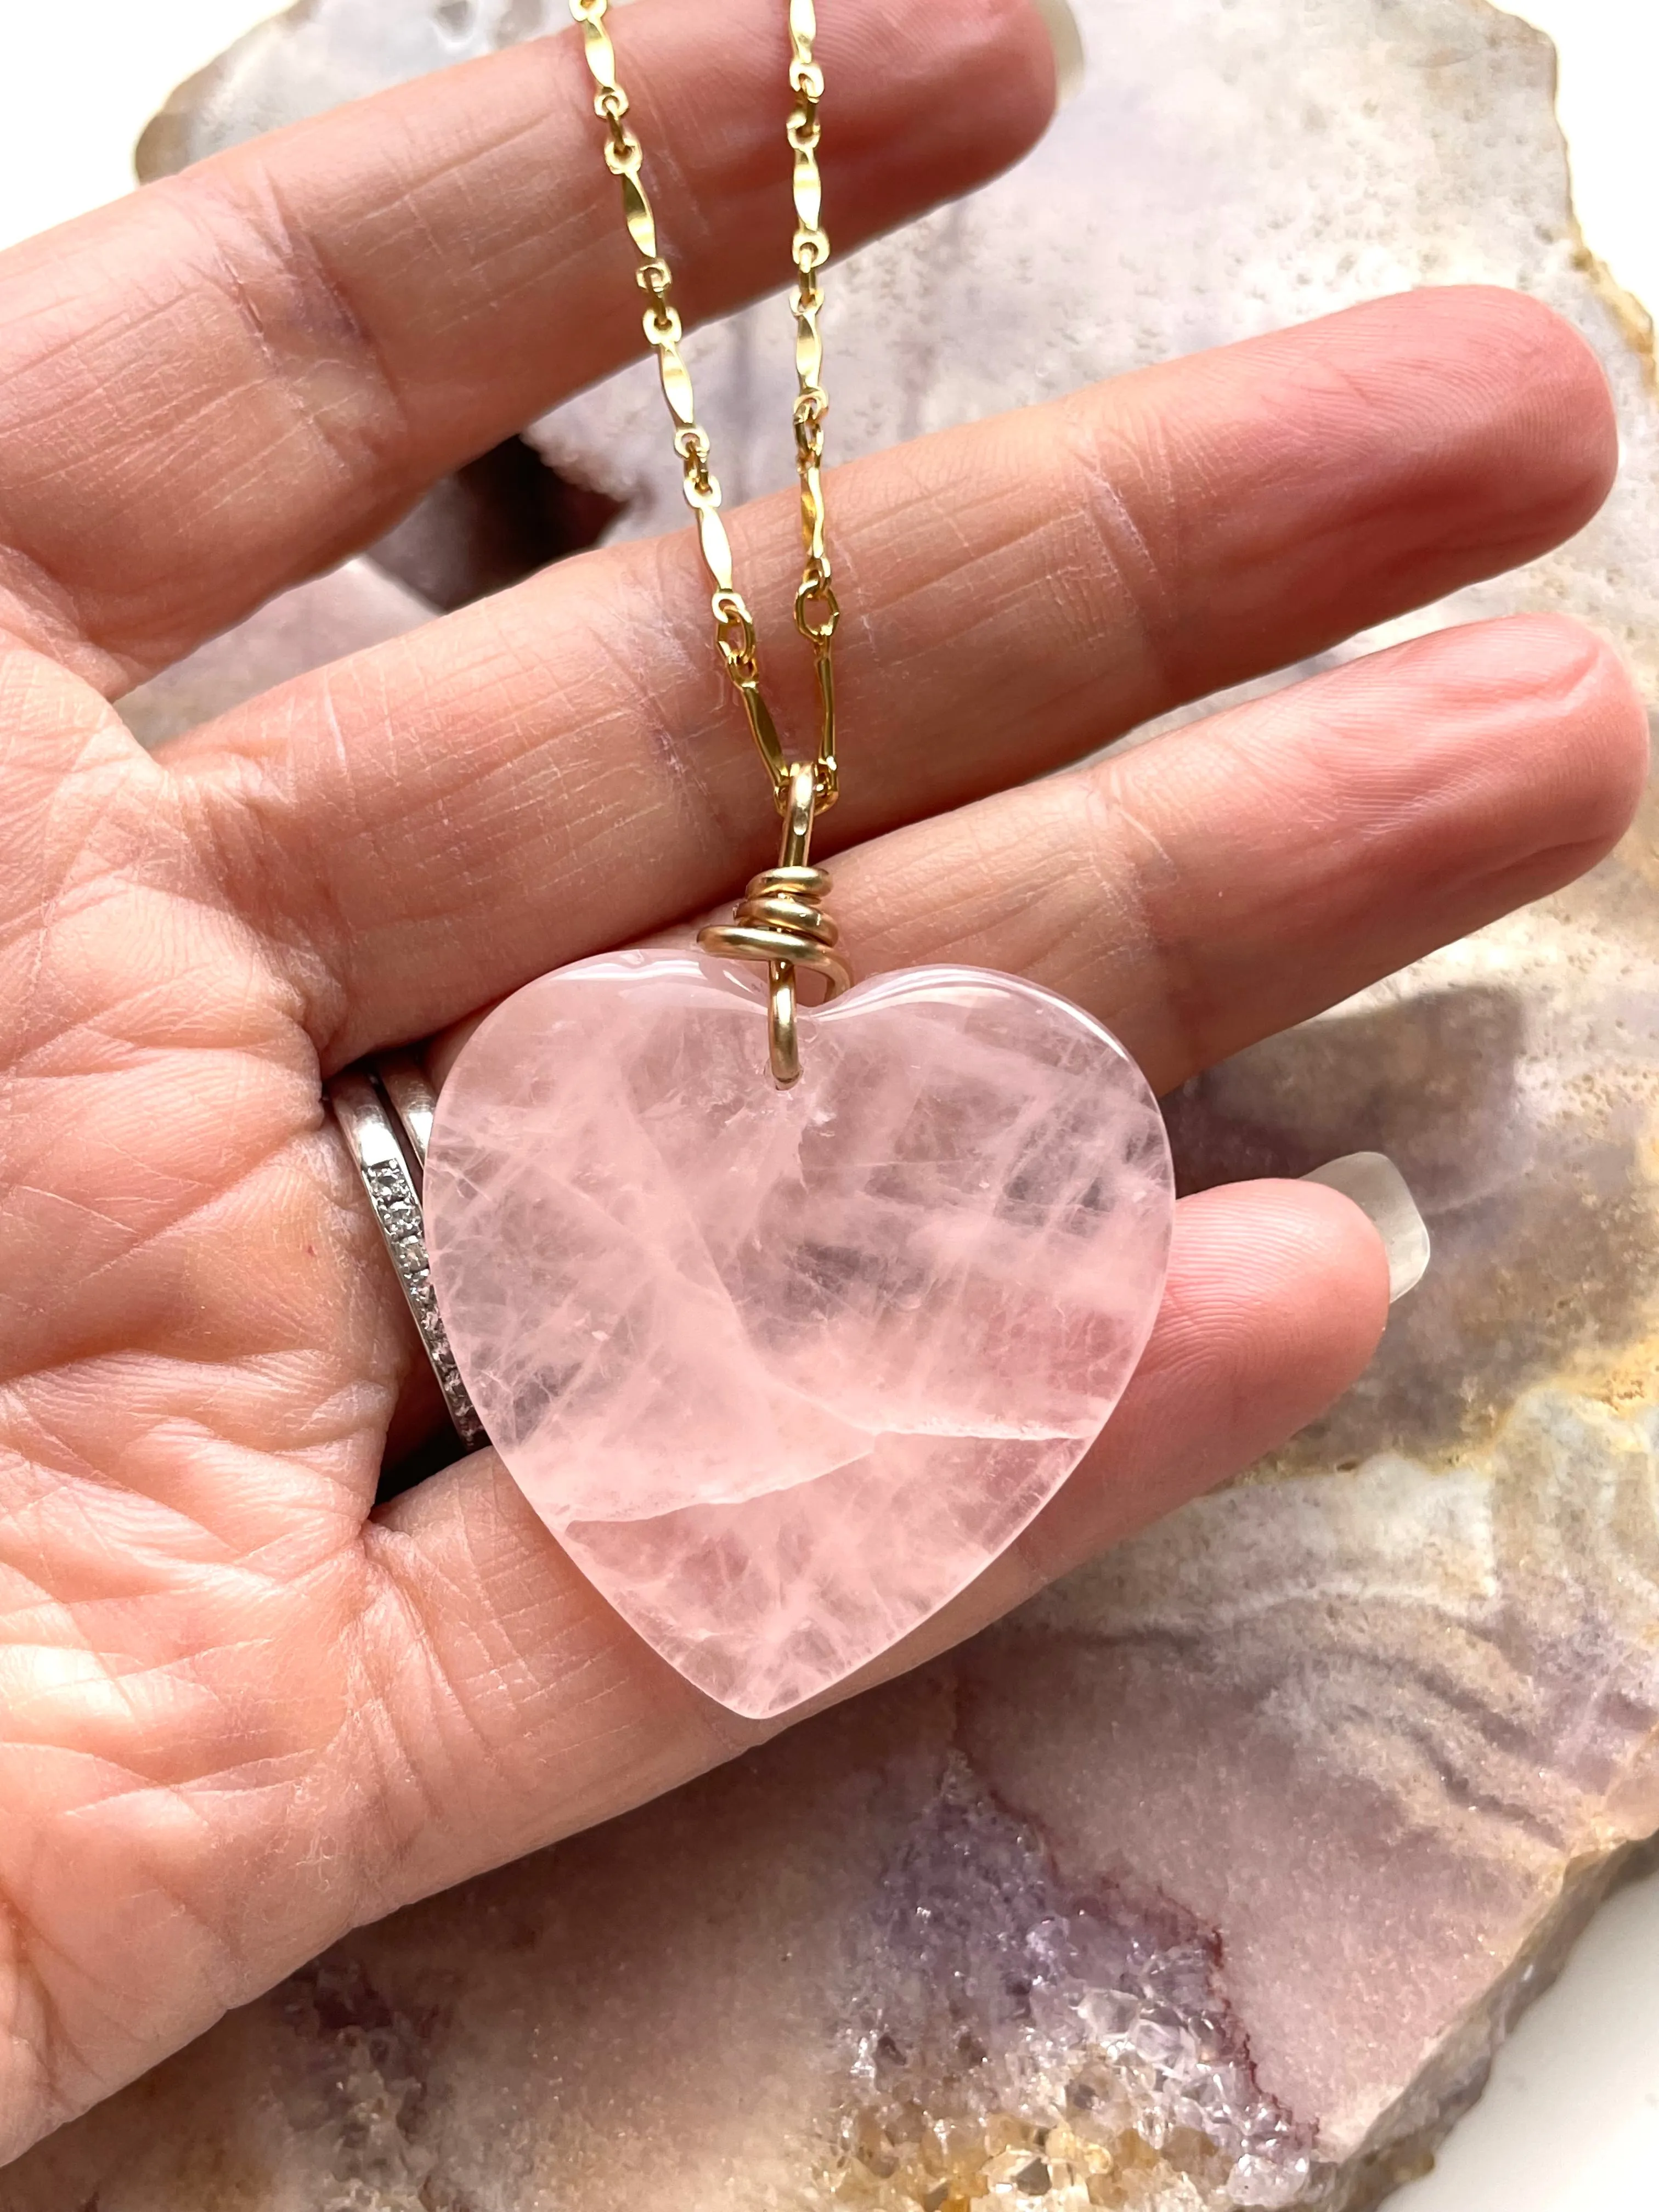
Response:
[[[1542,551],[1610,462],[1582,341],[1513,294],[1440,292],[843,469],[845,796],[823,845]],[[790,529],[776,504],[737,518],[783,604]],[[772,666],[792,728],[803,661]],[[774,856],[684,538],[301,677],[168,761],[330,1060],[708,907]]]

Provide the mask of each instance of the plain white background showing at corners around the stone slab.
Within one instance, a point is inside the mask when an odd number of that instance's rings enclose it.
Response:
[[[0,246],[124,192],[166,93],[270,0],[9,0],[7,13]],[[1513,13],[1562,51],[1588,243],[1659,310],[1659,0],[1517,0]],[[1438,2170],[1389,2212],[1659,2212],[1659,1880],[1601,1911]]]

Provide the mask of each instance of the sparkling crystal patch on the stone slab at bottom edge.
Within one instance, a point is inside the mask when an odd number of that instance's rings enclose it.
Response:
[[[1307,2201],[1217,1944],[1159,1900],[1068,1896],[951,1761],[887,1885],[849,2033],[830,2203],[880,2212],[1232,2212]]]

